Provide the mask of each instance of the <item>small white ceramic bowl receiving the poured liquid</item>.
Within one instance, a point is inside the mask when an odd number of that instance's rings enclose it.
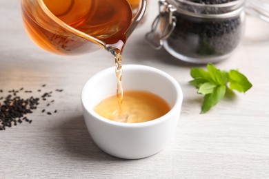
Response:
[[[83,115],[94,143],[107,154],[126,159],[152,156],[161,151],[177,128],[182,104],[179,83],[161,70],[144,65],[123,65],[123,90],[146,90],[161,96],[171,110],[144,123],[119,123],[94,112],[103,98],[116,93],[114,67],[90,78],[81,93]]]

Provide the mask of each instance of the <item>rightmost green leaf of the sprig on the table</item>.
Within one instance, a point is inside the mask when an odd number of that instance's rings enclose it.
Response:
[[[238,72],[237,70],[230,70],[229,72],[230,89],[235,89],[238,92],[246,92],[252,87],[248,78]]]

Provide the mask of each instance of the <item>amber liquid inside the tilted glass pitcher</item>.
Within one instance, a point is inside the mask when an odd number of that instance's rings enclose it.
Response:
[[[126,0],[43,0],[55,17],[79,30],[99,39],[106,48],[117,48],[120,52],[126,43],[126,32],[132,21],[132,8]],[[135,3],[132,4],[135,10]],[[57,54],[81,54],[92,50],[92,43],[74,34],[57,34],[50,30],[53,23],[37,23],[46,14],[34,16],[28,3],[22,3],[23,22],[33,41],[43,49]]]

